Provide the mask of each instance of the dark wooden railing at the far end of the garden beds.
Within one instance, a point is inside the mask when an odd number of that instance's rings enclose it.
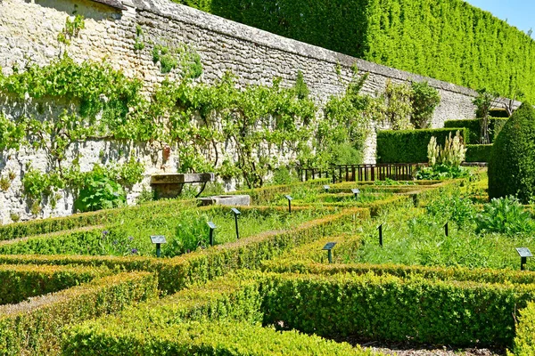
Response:
[[[411,181],[417,166],[422,164],[338,165],[328,170],[305,168],[301,170],[302,182],[317,178],[332,178],[332,182],[374,182],[389,178],[394,181]]]

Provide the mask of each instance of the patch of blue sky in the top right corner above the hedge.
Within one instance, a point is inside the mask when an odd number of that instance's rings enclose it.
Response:
[[[535,31],[535,1],[533,0],[466,0],[482,10],[491,12],[509,25],[528,32]],[[531,35],[535,38],[535,35]]]

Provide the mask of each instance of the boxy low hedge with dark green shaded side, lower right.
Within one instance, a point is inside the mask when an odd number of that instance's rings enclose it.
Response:
[[[399,279],[366,274],[263,277],[264,323],[324,337],[510,347],[514,312],[532,285]]]

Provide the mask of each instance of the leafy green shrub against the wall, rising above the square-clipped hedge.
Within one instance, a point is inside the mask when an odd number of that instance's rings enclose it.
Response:
[[[427,128],[434,109],[440,104],[439,91],[429,86],[427,82],[413,82],[411,86],[413,109],[411,123],[415,128]]]

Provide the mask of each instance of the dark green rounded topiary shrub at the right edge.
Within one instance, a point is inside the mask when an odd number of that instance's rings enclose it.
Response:
[[[489,196],[513,195],[527,204],[535,193],[535,109],[524,102],[490,152]]]

